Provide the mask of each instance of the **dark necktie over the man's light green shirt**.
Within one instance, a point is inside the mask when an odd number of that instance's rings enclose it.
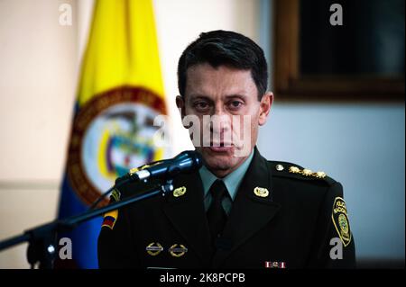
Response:
[[[211,185],[209,193],[212,196],[212,201],[208,208],[208,227],[213,246],[216,247],[216,240],[223,232],[227,220],[226,211],[221,204],[227,194],[226,185],[222,180],[217,179]]]

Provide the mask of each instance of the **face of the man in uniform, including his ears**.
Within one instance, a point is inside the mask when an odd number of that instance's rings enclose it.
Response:
[[[265,123],[271,108],[272,93],[258,100],[250,70],[215,68],[205,63],[189,67],[187,78],[184,97],[176,99],[182,120],[190,115],[199,120],[200,139],[194,139],[193,144],[208,169],[224,177],[240,166],[254,148],[258,126]],[[212,121],[208,121],[209,117]],[[189,125],[189,121],[183,123]]]

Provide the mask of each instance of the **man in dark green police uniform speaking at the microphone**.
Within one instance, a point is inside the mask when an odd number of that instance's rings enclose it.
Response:
[[[200,120],[200,137],[192,140],[204,166],[177,176],[168,196],[107,213],[98,239],[99,266],[354,267],[341,184],[323,172],[268,161],[255,147],[273,99],[263,50],[235,32],[202,33],[181,55],[178,76],[176,102],[182,119]],[[205,123],[204,116],[218,121]],[[235,116],[240,125],[232,121]],[[250,133],[242,144],[235,135],[247,123]],[[111,201],[154,184],[125,184]]]

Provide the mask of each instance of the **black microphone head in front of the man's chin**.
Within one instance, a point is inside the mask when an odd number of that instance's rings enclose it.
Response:
[[[142,169],[134,168],[123,176],[130,182],[142,181],[150,178],[169,179],[181,173],[191,173],[202,166],[202,158],[197,151],[186,150],[178,156],[152,164],[142,166]]]

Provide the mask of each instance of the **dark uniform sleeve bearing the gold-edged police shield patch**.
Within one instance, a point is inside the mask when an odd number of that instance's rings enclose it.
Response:
[[[350,228],[343,186],[330,185],[322,202],[310,267],[355,268],[355,242]]]

